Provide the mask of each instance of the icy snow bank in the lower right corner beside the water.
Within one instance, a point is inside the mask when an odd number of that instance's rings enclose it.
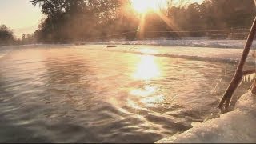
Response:
[[[256,142],[256,96],[248,92],[238,101],[234,111],[220,118],[194,123],[193,128],[182,134],[156,143],[219,143]]]

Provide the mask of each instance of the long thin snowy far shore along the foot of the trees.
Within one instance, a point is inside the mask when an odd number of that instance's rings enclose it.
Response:
[[[242,49],[246,40],[211,40],[211,39],[183,39],[183,40],[170,40],[170,39],[149,39],[139,41],[98,41],[98,42],[54,42],[54,43],[34,43],[26,45],[0,45],[2,46],[30,46],[30,45],[149,45],[149,46],[194,46],[194,47],[212,47],[212,48],[232,48]],[[254,42],[253,46],[256,46]]]

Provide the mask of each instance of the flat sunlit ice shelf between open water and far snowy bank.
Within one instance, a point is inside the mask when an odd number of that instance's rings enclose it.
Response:
[[[241,58],[243,49],[231,48],[209,48],[195,46],[152,46],[152,45],[117,45],[117,47],[106,47],[106,45],[82,45],[76,46],[90,50],[108,50],[134,54],[151,54],[158,57],[189,58],[194,60],[212,62],[233,62]],[[254,62],[249,56],[248,62]]]

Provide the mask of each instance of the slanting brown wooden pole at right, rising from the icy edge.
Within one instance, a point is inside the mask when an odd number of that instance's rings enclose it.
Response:
[[[246,58],[248,57],[248,54],[250,52],[250,47],[252,46],[252,43],[254,41],[255,34],[256,34],[256,17],[254,19],[253,26],[250,29],[250,34],[247,38],[246,46],[242,52],[242,58],[240,59],[238,68],[234,74],[234,77],[232,78],[232,81],[230,82],[230,85],[226,89],[226,92],[223,95],[222,100],[219,102],[218,107],[222,110],[222,112],[228,111],[230,106],[230,100],[234,94],[234,90],[238,88],[239,83],[242,81],[242,69],[246,63]]]

